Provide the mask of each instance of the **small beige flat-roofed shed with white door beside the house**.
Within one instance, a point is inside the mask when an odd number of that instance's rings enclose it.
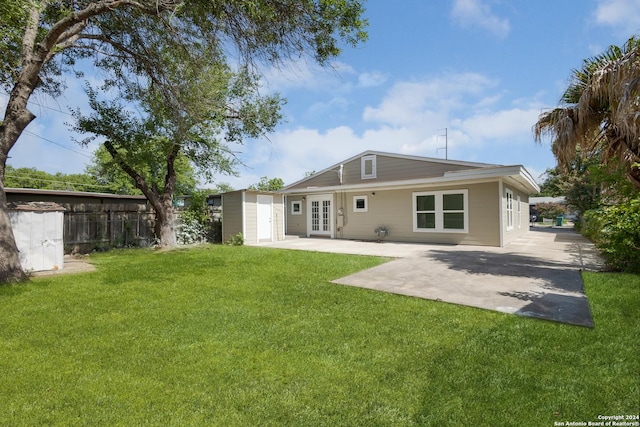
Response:
[[[222,194],[222,241],[242,233],[244,243],[284,240],[284,195],[237,190]]]

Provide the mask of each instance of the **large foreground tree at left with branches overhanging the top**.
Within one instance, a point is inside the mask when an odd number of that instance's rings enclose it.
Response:
[[[58,95],[80,59],[146,74],[171,96],[161,46],[224,50],[240,64],[310,55],[326,64],[366,38],[359,0],[0,0],[0,84],[9,100],[0,124],[0,282],[25,278],[9,222],[4,175],[12,147],[35,119],[39,90]],[[218,53],[217,53],[218,54]]]

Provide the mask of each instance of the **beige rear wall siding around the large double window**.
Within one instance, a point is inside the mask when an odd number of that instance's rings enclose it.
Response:
[[[468,233],[430,233],[413,231],[413,193],[419,191],[467,189],[469,197]],[[354,212],[353,196],[367,196],[368,211]],[[336,195],[336,236],[345,239],[375,240],[375,229],[385,226],[385,240],[499,246],[498,183],[464,187],[416,188],[372,192],[341,192]],[[339,215],[343,209],[342,217]],[[342,225],[342,227],[340,227]]]

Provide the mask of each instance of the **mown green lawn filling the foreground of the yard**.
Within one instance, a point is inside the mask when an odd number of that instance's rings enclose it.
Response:
[[[640,276],[594,329],[331,284],[385,260],[255,247],[92,256],[0,287],[0,425],[551,426],[637,414]]]

